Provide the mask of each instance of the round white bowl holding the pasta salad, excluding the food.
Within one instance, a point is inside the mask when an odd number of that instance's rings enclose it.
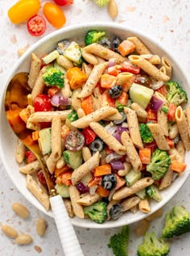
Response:
[[[151,39],[149,36],[146,36],[144,33],[140,31],[135,31],[133,28],[124,27],[122,25],[118,25],[115,23],[87,23],[87,24],[79,24],[70,27],[65,27],[58,31],[53,32],[52,34],[45,36],[43,39],[39,40],[35,43],[31,48],[27,50],[23,54],[22,57],[19,58],[19,61],[14,65],[9,78],[7,79],[7,83],[14,76],[14,73],[19,73],[22,71],[28,72],[30,60],[31,60],[31,52],[35,52],[37,55],[42,55],[44,52],[50,52],[53,48],[55,48],[56,43],[62,39],[75,39],[75,40],[83,40],[86,31],[89,29],[97,29],[101,31],[106,31],[108,36],[117,35],[122,39],[125,39],[127,36],[138,36],[144,44],[147,45],[147,48],[151,50],[151,52],[155,52],[159,54],[159,56],[166,56],[172,63],[173,66],[173,80],[176,80],[180,83],[180,86],[187,91],[188,97],[190,98],[190,90],[188,86],[188,78],[183,70],[180,68],[180,65],[172,55],[166,50],[165,47],[161,46],[158,42]],[[6,84],[3,87],[6,90]],[[12,182],[18,188],[20,193],[31,202],[36,208],[40,211],[47,214],[47,216],[52,216],[52,211],[46,212],[39,201],[35,199],[33,195],[26,188],[26,178],[24,174],[20,174],[18,170],[18,164],[15,162],[14,154],[16,148],[17,138],[14,133],[10,129],[10,125],[6,120],[6,115],[4,111],[4,102],[3,98],[1,99],[1,112],[0,112],[0,124],[1,124],[1,134],[0,134],[0,155],[2,157],[2,162],[6,168],[7,174],[9,174]],[[186,153],[185,162],[190,165],[190,154]],[[188,178],[189,168],[184,171],[183,174],[180,175],[177,180],[171,184],[170,187],[162,191],[163,200],[160,203],[151,202],[151,213],[157,211],[164,204],[166,204],[173,195],[180,190],[180,187],[183,186],[185,180]],[[74,217],[72,221],[72,225],[84,227],[84,228],[93,228],[93,229],[101,229],[101,228],[114,228],[119,227],[126,224],[134,223],[135,221],[141,220],[147,216],[142,212],[137,212],[136,214],[126,212],[120,217],[118,220],[109,220],[105,221],[104,224],[96,224],[93,220],[88,219],[79,219]],[[53,217],[53,216],[52,216]]]

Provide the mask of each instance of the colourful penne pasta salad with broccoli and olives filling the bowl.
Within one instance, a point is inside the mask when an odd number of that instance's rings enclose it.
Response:
[[[43,57],[33,52],[28,86],[20,122],[32,130],[69,216],[101,224],[151,212],[151,200],[161,201],[160,191],[186,169],[187,94],[172,81],[170,61],[138,37],[90,30],[83,44],[64,39]],[[48,210],[41,166],[21,141],[16,159]]]

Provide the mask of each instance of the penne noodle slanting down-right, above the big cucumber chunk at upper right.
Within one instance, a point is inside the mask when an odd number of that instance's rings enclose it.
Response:
[[[138,65],[138,67],[151,75],[152,78],[164,82],[170,79],[165,73],[157,69],[155,65],[152,65],[149,61],[143,59],[140,56],[130,55],[128,58],[132,64]]]

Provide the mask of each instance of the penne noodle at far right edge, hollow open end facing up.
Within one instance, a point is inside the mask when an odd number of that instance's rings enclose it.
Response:
[[[181,140],[184,143],[184,148],[186,150],[190,150],[190,139],[189,139],[189,133],[188,133],[188,121],[186,120],[186,117],[184,115],[184,111],[182,107],[178,106],[176,108],[176,123],[178,130],[180,132]]]

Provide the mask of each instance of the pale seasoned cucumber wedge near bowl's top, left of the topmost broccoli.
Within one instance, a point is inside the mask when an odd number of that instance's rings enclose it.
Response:
[[[76,64],[81,64],[81,48],[76,42],[72,41],[68,48],[64,51],[64,56],[70,61],[76,62]]]

